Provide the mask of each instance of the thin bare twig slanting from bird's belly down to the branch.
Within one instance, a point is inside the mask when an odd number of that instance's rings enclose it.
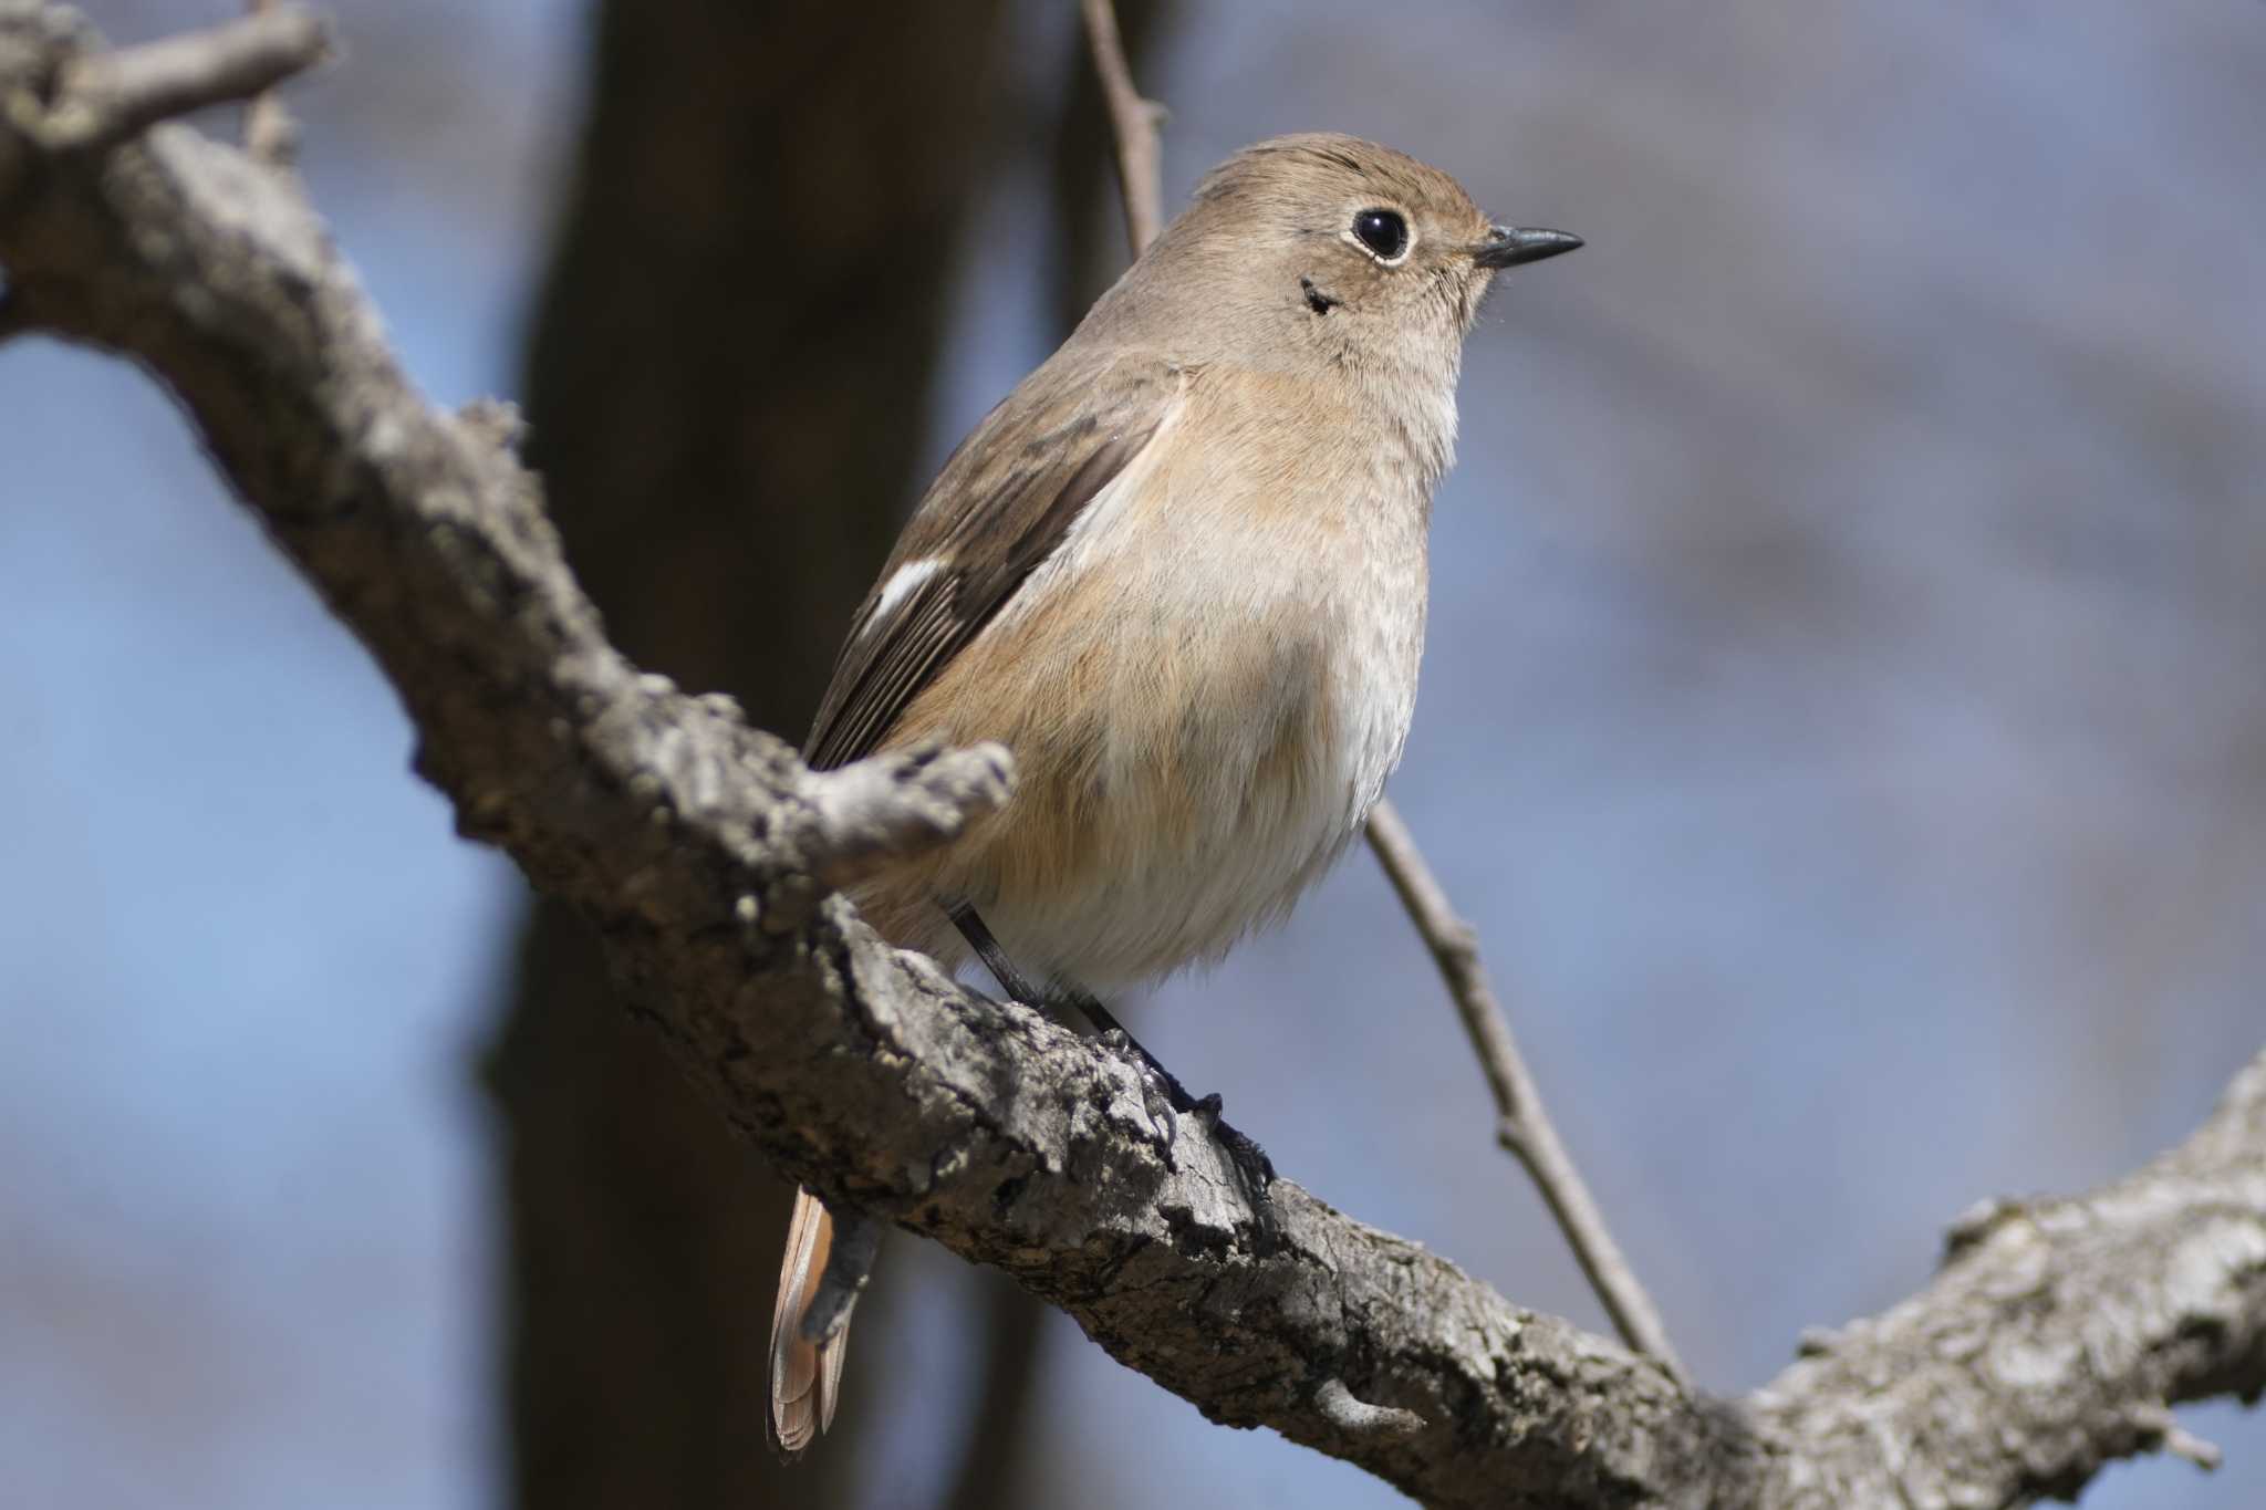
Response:
[[[1471,1035],[1471,1048],[1480,1055],[1486,1087],[1496,1093],[1496,1116],[1500,1118],[1496,1141],[1527,1166],[1527,1175],[1534,1177],[1550,1204],[1550,1216],[1557,1218],[1559,1232],[1573,1245],[1575,1261],[1582,1263],[1591,1288],[1604,1302],[1604,1313],[1613,1318],[1620,1340],[1684,1379],[1684,1365],[1677,1361],[1675,1347],[1668,1345],[1661,1313],[1645,1286],[1636,1281],[1636,1270],[1620,1256],[1613,1234],[1604,1227],[1604,1216],[1598,1213],[1598,1202],[1582,1182],[1582,1170],[1575,1168],[1566,1146],[1559,1143],[1557,1127],[1550,1125],[1550,1114],[1543,1109],[1527,1062],[1518,1055],[1518,1041],[1511,1037],[1502,1003],[1496,1001],[1496,989],[1486,983],[1477,935],[1448,906],[1448,892],[1432,876],[1432,867],[1425,865],[1416,840],[1409,838],[1407,824],[1400,822],[1389,801],[1380,799],[1378,806],[1369,808],[1369,847],[1378,851],[1378,863],[1400,894],[1400,906],[1407,908],[1416,933],[1432,949],[1455,1012],[1464,1019],[1464,1032]]]

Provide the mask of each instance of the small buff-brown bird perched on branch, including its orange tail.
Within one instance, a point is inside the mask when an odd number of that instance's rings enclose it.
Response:
[[[1464,335],[1500,269],[1579,244],[1351,136],[1212,170],[961,441],[859,607],[804,758],[999,740],[1017,772],[861,883],[866,921],[956,969],[981,919],[1067,994],[1283,917],[1400,761]],[[845,1313],[809,1320],[832,1247],[800,1191],[770,1333],[789,1453],[841,1390]]]

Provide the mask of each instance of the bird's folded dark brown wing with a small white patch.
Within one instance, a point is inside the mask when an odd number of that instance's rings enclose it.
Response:
[[[1058,353],[952,453],[859,604],[804,761],[847,765],[983,632],[1181,398],[1162,358]]]

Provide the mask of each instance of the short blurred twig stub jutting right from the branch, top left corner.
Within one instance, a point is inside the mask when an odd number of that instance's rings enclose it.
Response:
[[[50,147],[93,147],[208,104],[249,100],[331,50],[310,14],[265,9],[204,32],[77,57],[63,72],[63,109],[43,127]]]

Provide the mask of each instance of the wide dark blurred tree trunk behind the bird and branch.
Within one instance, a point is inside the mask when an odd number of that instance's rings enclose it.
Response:
[[[920,484],[1002,11],[605,0],[594,18],[528,358],[533,462],[616,643],[789,738]],[[489,1082],[517,1503],[843,1503],[877,1370],[850,1370],[841,1431],[782,1476],[761,1413],[786,1189],[553,908],[528,924]]]

